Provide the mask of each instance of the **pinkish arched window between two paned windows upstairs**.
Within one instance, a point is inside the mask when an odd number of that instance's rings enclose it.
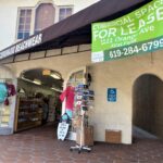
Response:
[[[51,3],[42,3],[36,10],[35,34],[54,23],[55,9]]]

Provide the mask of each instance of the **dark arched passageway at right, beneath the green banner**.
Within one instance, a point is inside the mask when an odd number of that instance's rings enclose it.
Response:
[[[163,82],[155,75],[138,77],[133,89],[134,136],[163,139]]]

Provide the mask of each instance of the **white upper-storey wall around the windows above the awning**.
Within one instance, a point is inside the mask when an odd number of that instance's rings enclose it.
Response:
[[[35,8],[39,2],[53,2],[54,5],[73,5],[74,13],[87,8],[98,0],[1,0],[0,1],[0,50],[11,46],[16,38],[17,8]],[[58,11],[57,11],[58,13]],[[58,21],[55,18],[55,21]]]

